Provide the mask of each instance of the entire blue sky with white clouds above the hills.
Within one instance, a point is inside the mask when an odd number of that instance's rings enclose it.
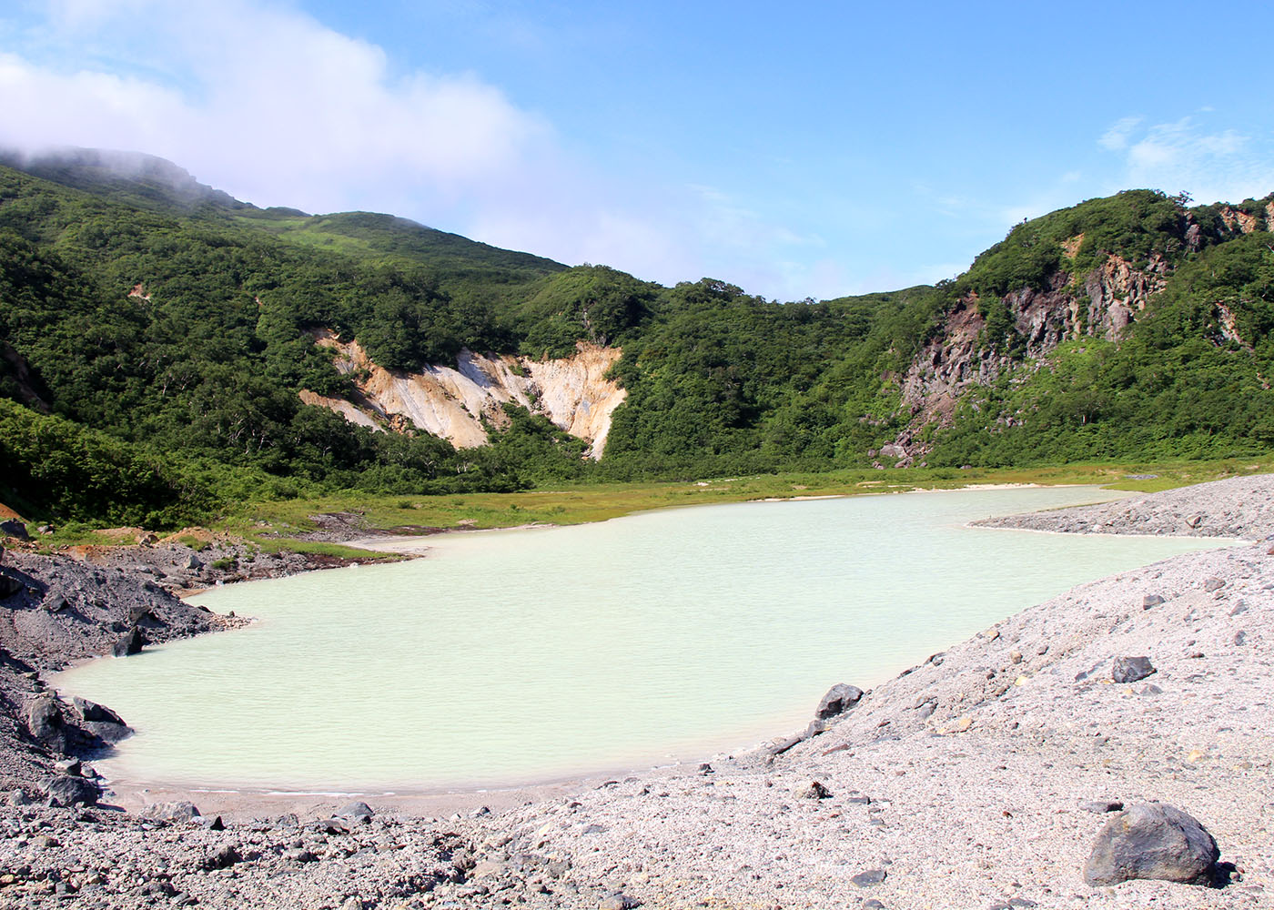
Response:
[[[952,277],[1120,189],[1274,191],[1271,25],[1176,1],[10,0],[0,144],[822,298]]]

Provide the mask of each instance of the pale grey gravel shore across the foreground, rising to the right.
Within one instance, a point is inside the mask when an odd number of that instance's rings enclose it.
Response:
[[[1243,478],[1103,509],[1131,507],[1127,526],[1201,512],[1195,533],[1264,537],[1271,491]],[[373,807],[367,821],[331,822],[327,804],[214,831],[0,807],[0,906],[1274,906],[1269,548],[1075,588],[868,692],[778,755],[776,740],[499,813]],[[1147,656],[1154,673],[1115,683],[1120,656]],[[824,798],[809,795],[815,781]],[[1140,799],[1201,821],[1232,882],[1085,886],[1108,817],[1085,804]]]

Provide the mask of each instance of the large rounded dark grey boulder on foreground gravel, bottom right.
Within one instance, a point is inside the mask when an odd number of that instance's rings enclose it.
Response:
[[[1134,878],[1212,885],[1219,858],[1217,841],[1198,820],[1167,803],[1135,803],[1097,832],[1084,881],[1093,887]]]

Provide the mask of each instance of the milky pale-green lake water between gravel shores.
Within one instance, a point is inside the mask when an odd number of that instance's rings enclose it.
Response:
[[[436,538],[428,558],[215,589],[254,626],[57,681],[136,730],[131,781],[429,790],[698,761],[1079,582],[1198,539],[970,529],[1096,488],[648,512]]]

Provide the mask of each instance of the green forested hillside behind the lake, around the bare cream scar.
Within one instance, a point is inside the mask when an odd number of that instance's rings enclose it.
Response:
[[[780,303],[390,215],[257,209],[159,159],[10,161],[25,170],[0,167],[0,500],[32,515],[176,524],[345,488],[1274,445],[1269,199],[1129,191],[1019,224],[936,287]],[[318,333],[403,376],[465,349],[619,348],[627,399],[596,463],[510,404],[490,445],[457,451],[302,404],[359,395]]]

